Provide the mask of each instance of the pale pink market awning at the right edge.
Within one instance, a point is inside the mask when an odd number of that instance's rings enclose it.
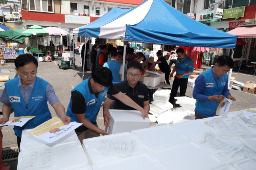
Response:
[[[227,33],[238,36],[238,38],[256,38],[256,25],[243,25]]]

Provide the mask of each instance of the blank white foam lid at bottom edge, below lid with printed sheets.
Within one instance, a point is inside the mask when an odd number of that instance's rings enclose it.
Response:
[[[102,162],[92,166],[93,170],[164,170],[147,152],[127,156],[117,160]]]

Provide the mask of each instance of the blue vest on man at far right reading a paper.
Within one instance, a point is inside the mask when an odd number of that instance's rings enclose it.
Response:
[[[205,95],[205,96],[219,95],[220,96],[222,94],[224,86],[226,85],[228,74],[225,74],[220,78],[218,87],[212,75],[212,68],[210,70],[203,72],[202,75],[204,76],[204,84],[205,84],[205,88],[202,92],[202,95]],[[211,115],[217,110],[219,104],[220,102],[215,102],[215,101],[202,102],[200,100],[196,100],[196,109],[201,113],[204,113],[206,115]]]

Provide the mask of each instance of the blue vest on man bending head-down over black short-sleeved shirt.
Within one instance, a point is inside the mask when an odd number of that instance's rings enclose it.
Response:
[[[105,88],[103,91],[101,91],[98,95],[98,99],[95,97],[94,94],[90,93],[89,87],[88,87],[88,81],[91,77],[84,80],[82,83],[78,84],[76,88],[74,88],[71,91],[78,91],[84,96],[84,101],[86,104],[86,111],[84,117],[88,119],[89,121],[96,121],[97,115],[100,111],[100,106],[104,100],[104,97],[106,96],[109,87]],[[77,123],[80,123],[76,117],[76,114],[72,112],[71,110],[72,106],[72,98],[70,98],[70,102],[68,104],[68,110],[67,110],[67,116],[71,117],[71,121],[75,121]],[[82,125],[83,126],[83,125]]]

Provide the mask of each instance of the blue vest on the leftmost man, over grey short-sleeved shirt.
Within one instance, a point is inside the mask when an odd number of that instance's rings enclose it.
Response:
[[[14,117],[36,116],[22,127],[14,126],[14,132],[21,137],[24,129],[35,128],[52,119],[52,115],[46,100],[46,86],[49,83],[42,78],[36,77],[33,90],[26,105],[18,87],[19,81],[20,78],[14,78],[4,84],[10,104],[14,109]]]

